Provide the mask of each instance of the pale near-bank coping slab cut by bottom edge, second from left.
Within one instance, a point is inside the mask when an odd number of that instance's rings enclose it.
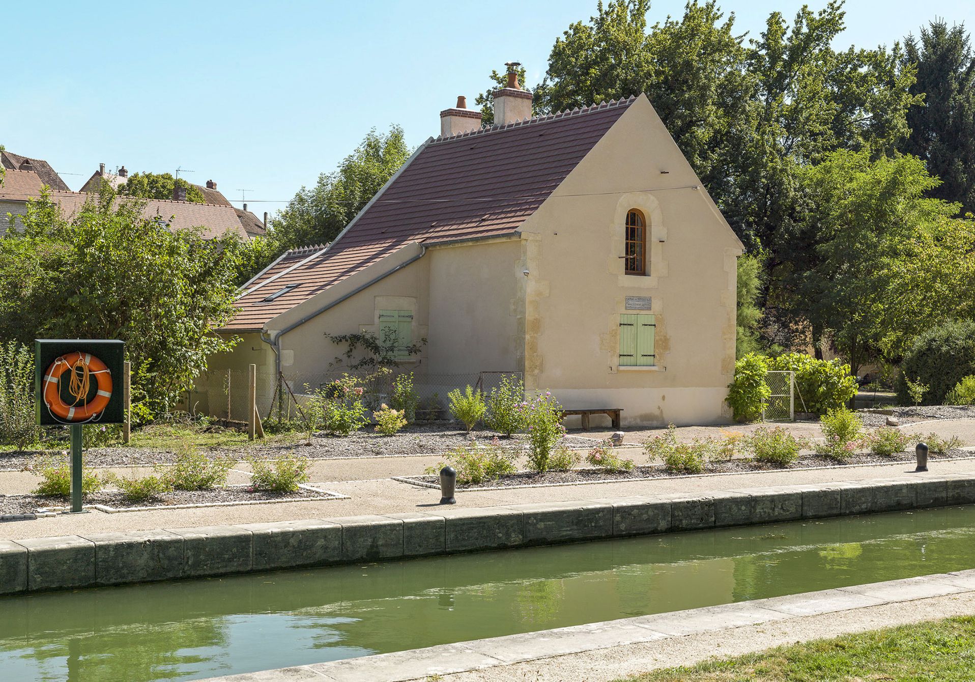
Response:
[[[379,654],[362,659],[317,663],[307,667],[336,682],[400,682],[416,677],[448,675],[461,670],[476,670],[500,663],[485,654],[460,644],[444,644],[426,649]]]

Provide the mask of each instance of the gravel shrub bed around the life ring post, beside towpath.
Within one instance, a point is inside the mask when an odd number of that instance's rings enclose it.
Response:
[[[295,493],[273,493],[270,491],[249,491],[248,486],[228,486],[211,490],[176,490],[162,493],[158,497],[143,501],[128,501],[119,491],[107,490],[86,495],[85,506],[98,504],[111,509],[132,509],[141,507],[174,508],[185,505],[204,504],[247,504],[259,501],[327,501],[344,500],[346,496],[331,491],[314,488],[301,488]],[[29,514],[38,509],[66,507],[64,498],[43,495],[0,496],[0,516],[8,514]]]

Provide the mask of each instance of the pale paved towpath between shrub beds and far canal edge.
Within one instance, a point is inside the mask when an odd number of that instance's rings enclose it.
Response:
[[[326,464],[331,465],[331,464]],[[932,461],[932,474],[975,471],[975,460]],[[682,476],[619,483],[510,488],[457,494],[457,505],[484,507],[544,501],[592,500],[597,498],[657,495],[664,493],[703,493],[760,486],[795,485],[834,481],[903,476],[913,464],[900,461],[875,466],[842,466],[825,469],[772,470],[720,475]],[[924,474],[917,474],[923,476]],[[316,477],[313,477],[316,481]],[[423,511],[438,506],[440,491],[419,488],[389,478],[338,481],[323,476],[316,484],[351,497],[350,500],[275,502],[196,509],[156,509],[106,514],[39,518],[0,523],[0,540],[18,540],[78,533],[137,531],[155,528],[182,528],[222,524],[286,521],[292,519],[333,518],[358,514],[386,514]]]

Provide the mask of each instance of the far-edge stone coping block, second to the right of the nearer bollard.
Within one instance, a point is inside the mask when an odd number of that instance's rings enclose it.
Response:
[[[524,542],[549,544],[612,537],[611,504],[595,501],[512,504],[522,512]]]

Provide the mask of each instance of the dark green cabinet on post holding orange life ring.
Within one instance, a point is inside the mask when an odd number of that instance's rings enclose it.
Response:
[[[125,343],[109,339],[34,341],[37,422],[71,431],[71,511],[82,511],[85,424],[122,423]]]

